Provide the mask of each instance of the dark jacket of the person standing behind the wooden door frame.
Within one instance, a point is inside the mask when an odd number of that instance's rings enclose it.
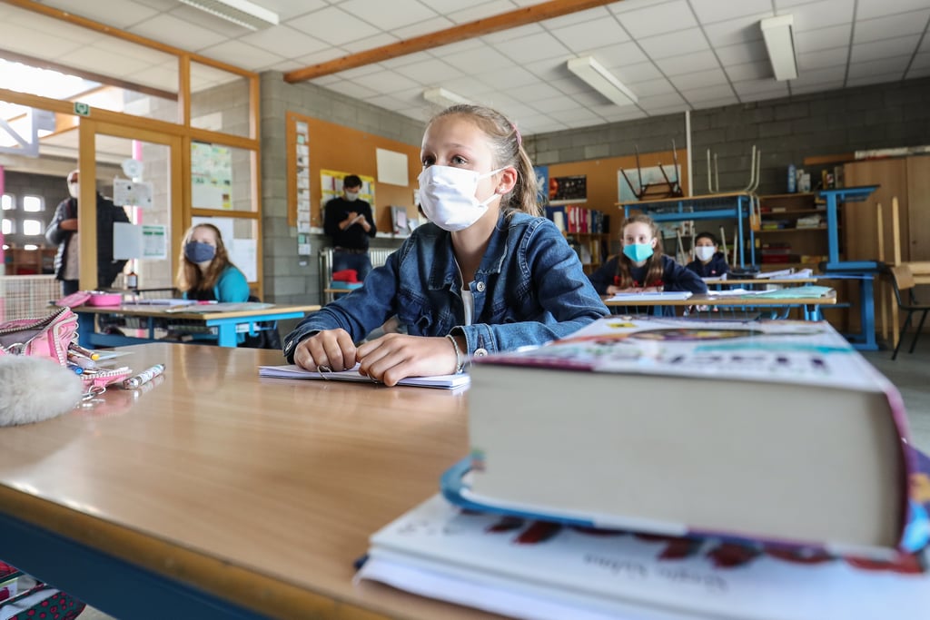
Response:
[[[46,240],[58,245],[55,254],[55,276],[64,280],[65,261],[68,259],[67,247],[74,231],[62,231],[62,220],[77,218],[77,199],[66,198],[55,209],[55,215],[46,228]],[[113,201],[97,194],[97,288],[113,284],[113,280],[126,266],[125,260],[113,260],[113,222],[128,222],[126,210],[115,206]]]

